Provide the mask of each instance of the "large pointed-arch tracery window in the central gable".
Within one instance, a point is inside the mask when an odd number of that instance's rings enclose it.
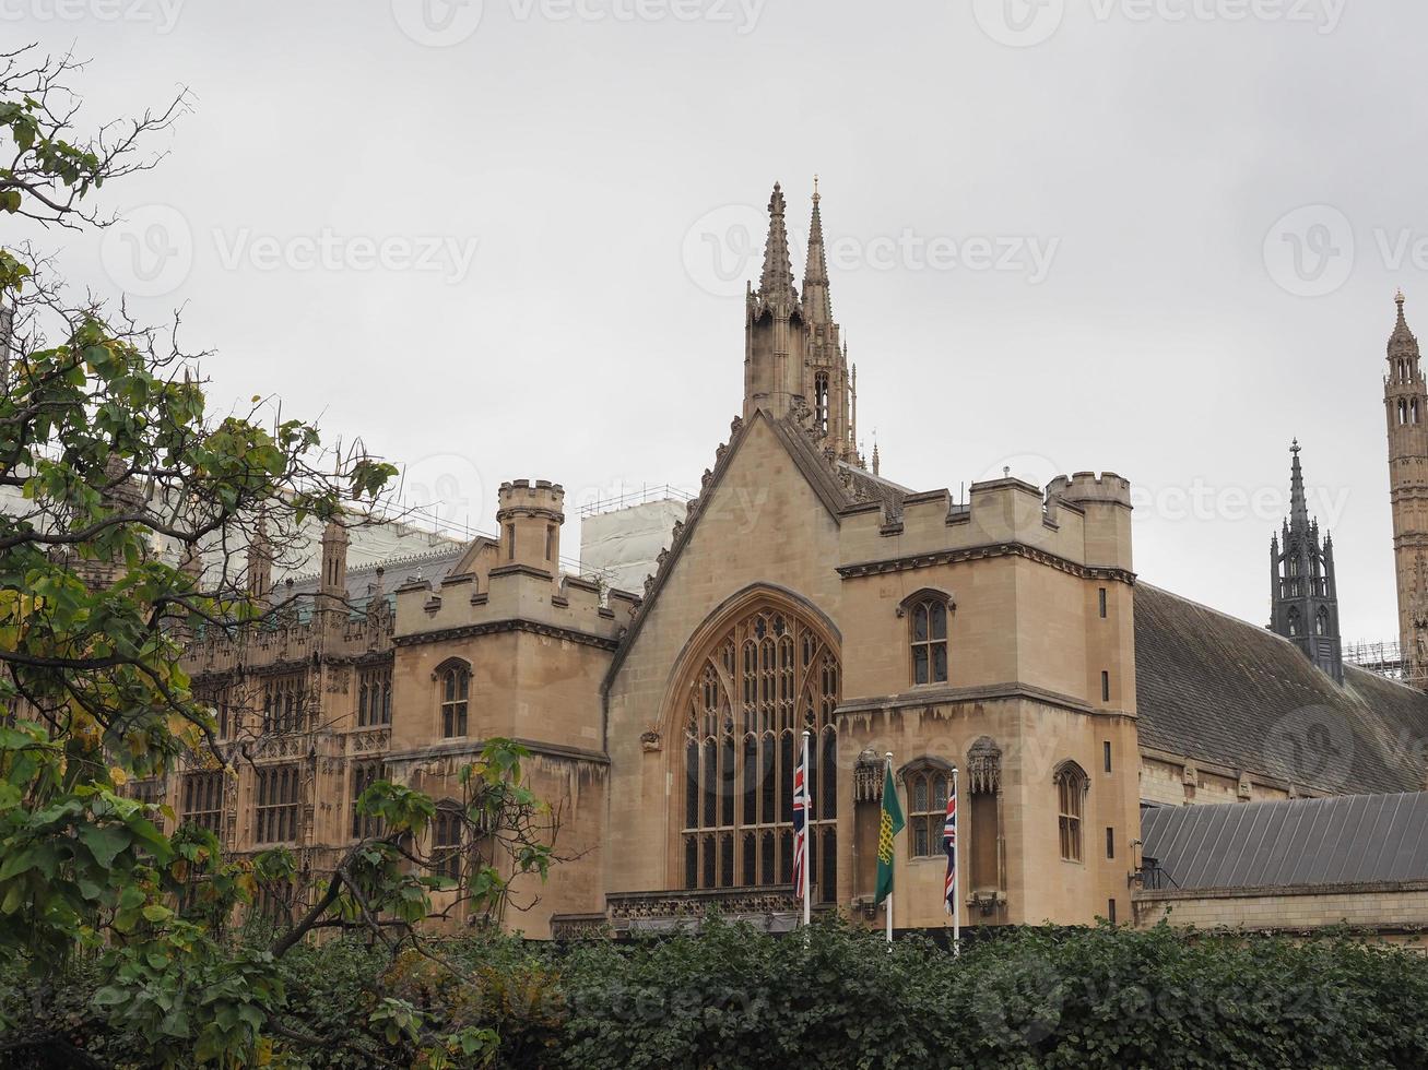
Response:
[[[824,633],[761,605],[714,639],[680,691],[684,728],[684,886],[793,880],[794,769],[808,745],[808,865],[817,897],[837,895],[837,735],[841,669]]]

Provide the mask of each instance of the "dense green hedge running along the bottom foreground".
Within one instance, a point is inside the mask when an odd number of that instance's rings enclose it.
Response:
[[[510,1067],[1428,1066],[1428,957],[1342,934],[1022,929],[954,957],[835,922],[770,937],[711,919],[630,944],[468,937],[440,952],[396,964],[353,940],[291,952],[274,1064],[411,1066],[367,1024],[396,997],[453,1029],[496,1029]],[[96,1064],[149,1066],[143,1037],[86,1010],[91,992],[76,963],[36,1021],[36,993],[0,980],[0,1046],[60,1021]],[[9,1051],[0,1066],[30,1067],[56,1049]]]

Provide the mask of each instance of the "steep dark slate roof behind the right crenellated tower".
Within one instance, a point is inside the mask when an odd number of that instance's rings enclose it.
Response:
[[[1428,695],[1344,666],[1344,686],[1287,639],[1135,588],[1141,746],[1322,795],[1417,792]]]

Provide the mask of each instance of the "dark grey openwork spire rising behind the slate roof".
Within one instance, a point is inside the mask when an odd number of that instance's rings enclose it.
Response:
[[[1344,682],[1344,643],[1338,625],[1334,536],[1319,542],[1319,524],[1304,501],[1304,469],[1295,439],[1289,475],[1289,519],[1269,539],[1269,629],[1289,639],[1311,662]]]

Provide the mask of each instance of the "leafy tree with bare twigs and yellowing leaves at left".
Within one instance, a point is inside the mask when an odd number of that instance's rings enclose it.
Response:
[[[94,194],[157,163],[149,136],[186,97],[80,134],[71,57],[0,56],[0,213],[43,227],[107,225]],[[4,141],[9,141],[6,146]],[[73,298],[50,260],[0,251],[0,974],[29,972],[46,1021],[50,980],[83,969],[84,1014],[146,1044],[146,1064],[260,1063],[317,1043],[284,1014],[280,960],[320,929],[364,929],[397,956],[423,943],[433,896],[451,900],[418,845],[434,815],[418,792],[380,782],[360,812],[381,833],[353,846],[266,942],[234,933],[263,885],[293,859],[223,857],[204,830],[163,832],[171,813],[127,798],[136,778],[180,762],[227,768],[211,706],[183,671],[200,629],[263,628],[246,548],[281,558],[306,525],[363,522],[396,469],[254,397],[216,412],[198,354],[136,324],[123,304]],[[526,752],[491,740],[463,775],[461,899],[497,913],[511,873],[544,875],[544,807],[521,783]],[[480,1061],[478,1031],[434,1031],[400,1000],[371,1009],[433,1066]],[[0,1020],[4,1030],[16,1020]],[[57,1033],[49,1043],[63,1046]],[[40,1037],[43,1047],[46,1037]],[[37,1039],[27,1034],[26,1050]]]

